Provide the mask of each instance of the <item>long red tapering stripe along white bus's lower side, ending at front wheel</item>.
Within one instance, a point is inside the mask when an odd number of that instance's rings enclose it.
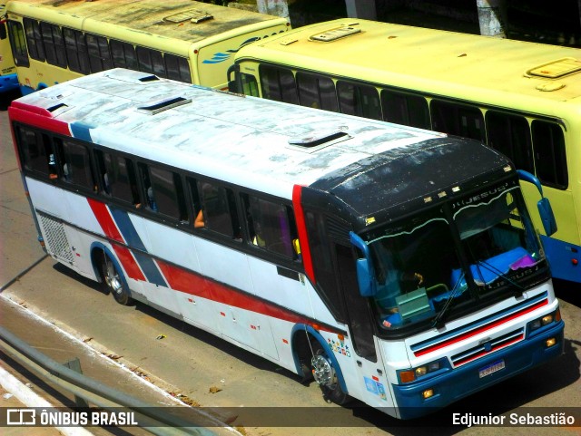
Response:
[[[162,270],[163,276],[165,276],[165,279],[173,290],[192,296],[201,296],[217,303],[222,303],[223,305],[233,305],[244,310],[271,316],[290,323],[313,325],[313,322],[306,316],[294,314],[290,310],[244,294],[230,286],[214,282],[178,266],[166,264],[161,260],[157,260],[157,265]],[[331,331],[330,328],[321,327],[321,325],[319,325],[319,328],[320,330]]]

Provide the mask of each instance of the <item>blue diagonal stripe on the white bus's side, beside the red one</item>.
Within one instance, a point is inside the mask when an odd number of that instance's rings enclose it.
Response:
[[[147,281],[157,286],[169,287],[159,268],[155,264],[155,261],[147,254],[147,248],[145,248],[142,238],[133,226],[129,214],[118,208],[110,207],[109,210],[111,210],[111,216],[113,217],[117,228],[119,228],[119,231],[123,235],[125,243],[129,247],[135,248],[135,250],[132,250],[133,257],[135,257],[139,267],[142,268]]]

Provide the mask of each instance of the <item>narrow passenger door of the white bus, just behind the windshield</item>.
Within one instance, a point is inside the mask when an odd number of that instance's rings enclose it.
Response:
[[[338,279],[347,308],[349,333],[353,346],[352,358],[359,395],[350,392],[373,407],[394,407],[389,393],[387,374],[374,334],[374,318],[366,298],[360,296],[355,266],[356,256],[351,246],[334,244]]]

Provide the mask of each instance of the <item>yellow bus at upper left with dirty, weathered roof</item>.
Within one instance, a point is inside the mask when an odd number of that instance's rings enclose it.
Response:
[[[23,94],[113,67],[224,88],[233,54],[287,19],[191,0],[6,4]]]

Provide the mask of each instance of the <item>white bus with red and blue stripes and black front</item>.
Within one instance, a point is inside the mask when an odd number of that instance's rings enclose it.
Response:
[[[478,141],[122,69],[9,117],[54,260],[335,402],[409,419],[562,354],[540,184]]]

